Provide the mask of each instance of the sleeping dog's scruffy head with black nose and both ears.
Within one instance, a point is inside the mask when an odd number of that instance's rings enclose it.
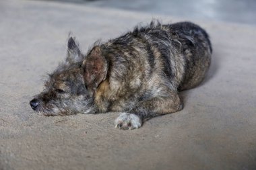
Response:
[[[45,116],[95,113],[94,91],[106,77],[106,62],[97,46],[84,56],[69,38],[67,58],[49,75],[44,91],[30,101],[36,112]]]

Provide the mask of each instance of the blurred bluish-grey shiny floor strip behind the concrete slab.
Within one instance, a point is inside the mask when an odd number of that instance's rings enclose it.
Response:
[[[256,24],[256,1],[254,0],[57,0],[102,8],[123,9],[156,14],[171,15],[187,19]]]

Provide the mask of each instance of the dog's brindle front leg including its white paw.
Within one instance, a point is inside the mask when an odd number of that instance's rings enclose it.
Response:
[[[115,127],[124,130],[139,128],[143,120],[162,114],[170,114],[182,109],[183,103],[177,93],[170,93],[168,97],[154,97],[139,102],[129,112],[121,113],[115,120]]]

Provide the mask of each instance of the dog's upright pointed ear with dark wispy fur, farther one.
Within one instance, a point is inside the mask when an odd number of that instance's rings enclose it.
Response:
[[[81,62],[83,59],[83,55],[79,50],[79,46],[75,43],[73,37],[69,37],[67,41],[67,58],[66,61],[68,63]]]

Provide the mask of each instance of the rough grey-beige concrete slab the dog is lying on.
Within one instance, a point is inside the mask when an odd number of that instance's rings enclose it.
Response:
[[[185,18],[156,15],[162,22]],[[152,15],[44,1],[0,2],[0,169],[256,169],[255,27],[192,20],[214,54],[205,82],[181,93],[181,112],[138,130],[117,113],[35,114],[28,101],[65,56],[72,31],[84,52]]]

